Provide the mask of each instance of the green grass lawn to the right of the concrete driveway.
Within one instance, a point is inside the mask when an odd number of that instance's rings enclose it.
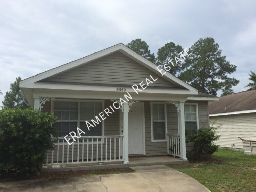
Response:
[[[185,173],[216,191],[256,191],[256,155],[219,149],[212,155],[217,161],[170,165],[169,167]]]

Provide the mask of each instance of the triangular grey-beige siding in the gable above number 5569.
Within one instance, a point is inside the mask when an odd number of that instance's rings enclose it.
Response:
[[[141,81],[145,82],[146,78],[151,79],[150,75],[154,79],[158,78],[157,81],[150,84],[152,87],[175,87],[163,79],[160,73],[154,74],[120,52],[115,52],[109,56],[42,81],[134,85]]]

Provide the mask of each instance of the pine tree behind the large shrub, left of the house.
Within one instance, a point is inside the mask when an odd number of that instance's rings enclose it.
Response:
[[[20,81],[21,77],[19,76],[18,78],[16,78],[16,81],[14,83],[11,83],[10,92],[6,92],[6,95],[4,96],[4,101],[2,102],[4,107],[21,109],[29,107],[25,102],[23,102],[19,86]]]

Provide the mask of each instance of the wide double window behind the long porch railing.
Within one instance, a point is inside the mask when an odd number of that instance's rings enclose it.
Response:
[[[55,129],[59,131],[59,136],[77,132],[77,127],[86,133],[84,136],[101,136],[102,122],[89,131],[85,121],[91,122],[102,112],[102,106],[103,102],[54,101],[54,116],[59,121]]]

